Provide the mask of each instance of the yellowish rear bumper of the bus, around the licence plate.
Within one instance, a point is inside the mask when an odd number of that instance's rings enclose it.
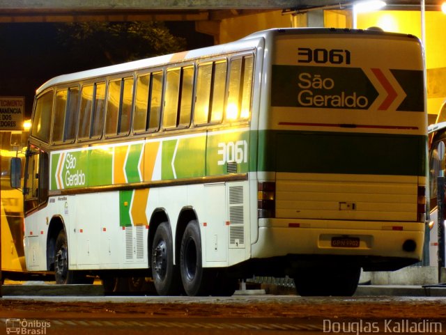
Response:
[[[401,230],[392,230],[395,228]],[[333,247],[332,237],[359,238],[359,244],[355,247]],[[408,240],[415,242],[413,251],[403,249]],[[364,258],[364,266],[371,262],[371,258],[381,261],[399,258],[401,264],[407,263],[405,260],[415,263],[422,258],[423,242],[422,223],[327,220],[293,223],[289,219],[261,219],[259,239],[252,244],[252,258],[325,255]]]

